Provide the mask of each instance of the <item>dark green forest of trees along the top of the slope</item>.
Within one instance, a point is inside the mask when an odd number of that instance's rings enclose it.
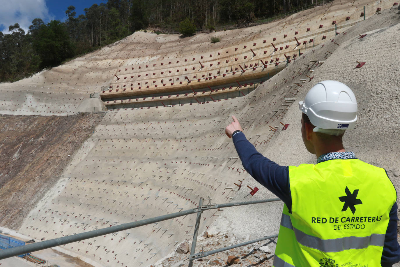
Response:
[[[15,81],[75,56],[98,49],[149,26],[179,30],[182,21],[197,29],[276,17],[326,0],[108,0],[66,20],[32,20],[28,32],[18,24],[0,32],[0,82]],[[188,20],[186,20],[188,18]]]

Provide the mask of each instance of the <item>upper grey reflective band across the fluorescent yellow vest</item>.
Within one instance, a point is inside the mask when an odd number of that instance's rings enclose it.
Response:
[[[338,252],[346,249],[365,249],[368,246],[383,247],[385,242],[385,235],[372,234],[367,237],[341,237],[336,239],[321,239],[296,229],[292,225],[290,216],[282,213],[282,226],[294,231],[298,243],[318,249],[323,252]]]

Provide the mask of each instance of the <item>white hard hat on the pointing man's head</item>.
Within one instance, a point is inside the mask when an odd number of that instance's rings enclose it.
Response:
[[[299,102],[299,108],[317,127],[314,132],[340,135],[356,125],[356,97],[346,84],[338,81],[325,80],[313,86],[304,101]]]

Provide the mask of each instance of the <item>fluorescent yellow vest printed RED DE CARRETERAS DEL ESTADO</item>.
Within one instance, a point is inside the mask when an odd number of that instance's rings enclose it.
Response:
[[[386,171],[358,159],[289,166],[274,267],[380,266],[396,189]]]

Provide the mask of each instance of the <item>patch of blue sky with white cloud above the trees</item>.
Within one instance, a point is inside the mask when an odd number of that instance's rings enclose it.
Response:
[[[28,32],[34,18],[41,18],[45,23],[50,20],[64,21],[65,10],[75,6],[76,16],[84,14],[84,8],[92,4],[106,3],[103,0],[0,0],[0,31],[8,33],[8,26],[15,23]]]

